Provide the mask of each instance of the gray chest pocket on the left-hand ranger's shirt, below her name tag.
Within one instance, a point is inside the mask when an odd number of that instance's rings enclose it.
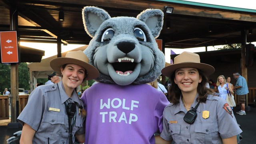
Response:
[[[64,130],[64,120],[65,115],[56,113],[44,114],[38,129],[38,135],[44,138],[57,140],[60,136],[61,130]]]

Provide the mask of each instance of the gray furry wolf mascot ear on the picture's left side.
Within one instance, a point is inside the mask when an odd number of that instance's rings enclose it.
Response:
[[[94,6],[86,6],[82,10],[84,29],[90,37],[94,37],[96,31],[105,20],[110,19],[108,12]]]

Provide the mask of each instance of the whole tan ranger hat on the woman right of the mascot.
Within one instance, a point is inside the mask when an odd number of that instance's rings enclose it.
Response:
[[[164,76],[170,77],[172,73],[178,68],[197,68],[201,70],[206,76],[214,73],[215,69],[209,64],[200,62],[200,56],[193,52],[182,52],[174,58],[174,64],[166,66],[162,69]]]

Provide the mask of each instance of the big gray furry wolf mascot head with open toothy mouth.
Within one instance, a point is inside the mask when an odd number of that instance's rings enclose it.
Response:
[[[92,37],[84,50],[103,83],[118,85],[154,81],[164,68],[164,54],[155,38],[162,30],[163,12],[147,9],[133,17],[114,17],[101,8],[82,10],[84,28]]]

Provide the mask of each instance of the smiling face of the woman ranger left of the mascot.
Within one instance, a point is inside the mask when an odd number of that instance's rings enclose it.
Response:
[[[67,64],[64,69],[61,68],[61,73],[65,90],[74,90],[82,84],[85,77],[85,69],[76,64]]]

